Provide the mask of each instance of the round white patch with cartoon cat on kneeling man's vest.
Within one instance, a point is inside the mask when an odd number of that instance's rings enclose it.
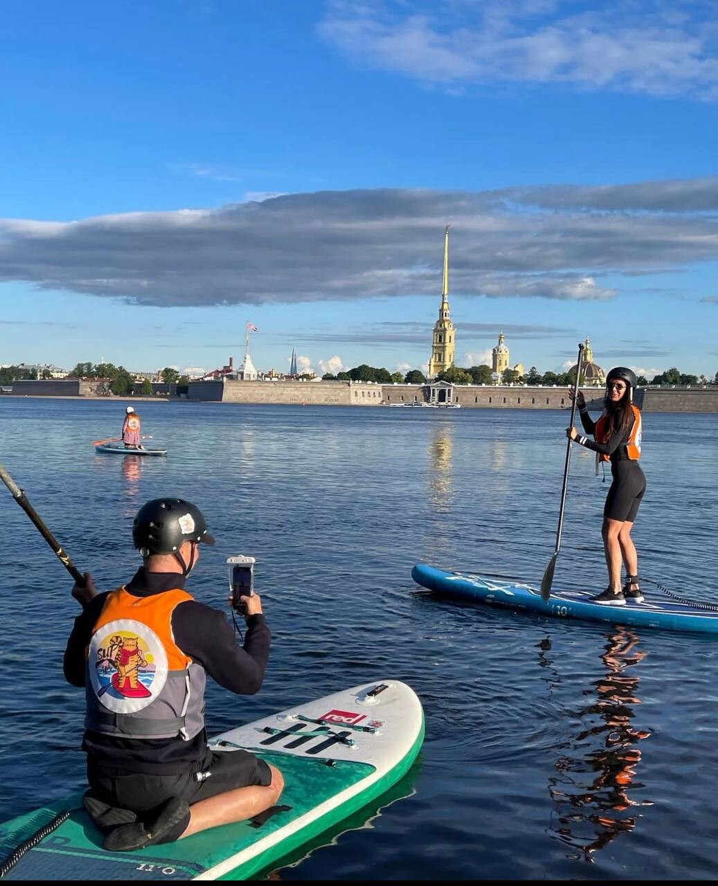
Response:
[[[131,618],[101,627],[90,642],[90,683],[114,713],[142,711],[167,681],[167,653],[152,628]]]

